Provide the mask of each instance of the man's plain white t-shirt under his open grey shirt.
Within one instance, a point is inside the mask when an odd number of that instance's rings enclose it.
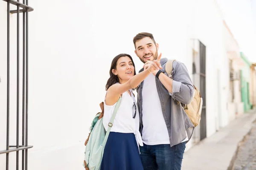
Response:
[[[149,74],[144,80],[142,98],[143,143],[147,145],[170,144],[153,74]],[[188,137],[183,142],[187,140]]]

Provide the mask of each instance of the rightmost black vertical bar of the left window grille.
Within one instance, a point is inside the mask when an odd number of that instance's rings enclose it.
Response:
[[[28,0],[26,0],[26,5],[28,5]],[[28,146],[28,66],[29,66],[29,11],[26,9],[26,144]],[[28,169],[28,150],[25,150],[25,170]]]

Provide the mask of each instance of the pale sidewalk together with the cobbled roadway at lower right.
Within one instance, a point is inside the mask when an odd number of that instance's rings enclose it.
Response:
[[[255,120],[256,109],[199,142],[185,152],[181,169],[256,170]]]

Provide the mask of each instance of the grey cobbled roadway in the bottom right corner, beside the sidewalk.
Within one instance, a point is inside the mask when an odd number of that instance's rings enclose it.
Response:
[[[256,121],[240,143],[233,170],[256,170]]]

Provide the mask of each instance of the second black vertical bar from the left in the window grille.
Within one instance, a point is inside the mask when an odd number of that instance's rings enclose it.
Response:
[[[17,0],[19,2],[19,0]],[[19,148],[19,126],[20,126],[20,6],[17,5],[17,127],[16,148]],[[19,151],[16,152],[16,170],[19,170]]]

